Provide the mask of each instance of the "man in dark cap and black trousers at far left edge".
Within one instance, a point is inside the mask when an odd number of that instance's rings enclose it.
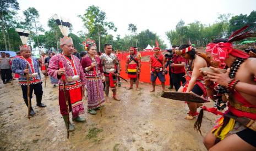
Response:
[[[0,69],[3,84],[10,83],[10,58],[6,57],[4,52],[1,52]]]

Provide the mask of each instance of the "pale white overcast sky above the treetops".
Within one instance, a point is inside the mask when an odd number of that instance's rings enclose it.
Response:
[[[39,21],[46,30],[48,30],[48,19],[53,14],[58,14],[70,19],[73,33],[77,34],[81,30],[86,31],[78,15],[85,14],[85,10],[90,5],[95,5],[100,10],[105,11],[107,21],[114,22],[117,27],[116,32],[108,32],[114,37],[117,34],[120,34],[121,37],[130,34],[128,24],[135,24],[138,33],[149,29],[159,35],[167,45],[170,45],[170,42],[168,42],[165,33],[175,30],[177,22],[181,19],[185,24],[200,21],[202,24],[209,25],[217,21],[219,14],[249,15],[251,11],[256,10],[255,0],[18,0],[18,2],[20,18],[24,18],[24,10],[34,7],[39,11]]]

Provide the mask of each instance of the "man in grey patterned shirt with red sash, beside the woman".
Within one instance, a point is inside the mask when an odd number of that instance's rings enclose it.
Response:
[[[103,66],[105,76],[105,94],[108,97],[109,89],[113,91],[113,98],[120,101],[117,98],[116,83],[117,77],[120,74],[119,61],[117,56],[112,53],[112,44],[104,44],[105,54],[100,56],[101,64]]]

